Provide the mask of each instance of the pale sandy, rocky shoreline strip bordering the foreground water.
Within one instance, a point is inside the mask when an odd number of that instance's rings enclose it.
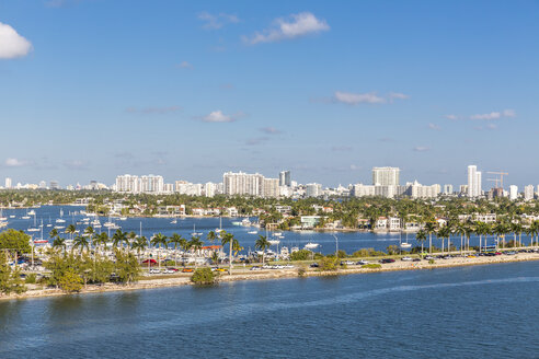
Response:
[[[438,268],[457,268],[469,267],[480,265],[495,265],[505,263],[519,263],[519,262],[532,262],[539,260],[538,253],[519,253],[514,256],[500,255],[495,257],[455,257],[449,259],[436,259],[434,264],[429,264],[426,260],[422,262],[402,262],[395,260],[394,263],[383,264],[381,268],[360,268],[353,266],[352,268],[339,268],[335,271],[320,271],[307,267],[303,275],[299,275],[298,268],[302,265],[296,266],[294,269],[268,269],[259,273],[252,273],[250,270],[237,268],[236,274],[232,276],[222,275],[219,276],[218,282],[231,282],[231,281],[245,281],[245,280],[272,280],[284,278],[309,278],[309,277],[326,277],[326,276],[345,276],[345,275],[362,275],[372,273],[386,273],[386,271],[406,271],[406,270],[424,270],[424,269],[438,269]],[[156,278],[156,279],[141,279],[130,285],[114,285],[106,283],[103,286],[89,285],[78,293],[66,293],[60,289],[54,288],[35,288],[35,285],[28,285],[31,288],[21,294],[0,296],[0,301],[10,300],[24,300],[24,299],[37,299],[48,297],[61,297],[61,296],[81,296],[91,293],[106,293],[106,292],[121,292],[121,291],[134,291],[134,290],[148,290],[181,286],[195,286],[191,281],[191,275],[188,276],[174,276],[170,278]],[[34,289],[32,289],[32,286]]]

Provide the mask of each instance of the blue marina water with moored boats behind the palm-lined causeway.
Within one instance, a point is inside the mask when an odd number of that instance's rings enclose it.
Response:
[[[44,206],[42,208],[35,209],[36,211],[36,219],[37,219],[37,224],[41,223],[43,220],[44,224],[49,223],[49,221],[55,225],[55,220],[59,218],[60,209],[64,210],[64,219],[66,220],[66,223],[62,225],[69,225],[69,224],[76,224],[78,221],[80,221],[83,216],[71,216],[70,213],[73,213],[76,211],[80,211],[81,209],[84,209],[83,207],[73,207],[73,206]],[[3,210],[3,215],[5,217],[9,217],[11,215],[14,215],[16,218],[11,219],[9,218],[9,228],[14,228],[18,230],[27,230],[30,227],[34,225],[34,219],[33,217],[27,220],[21,219],[22,216],[26,213],[26,209],[10,209],[10,210]],[[108,220],[108,218],[100,218],[101,223],[104,223]],[[255,220],[252,218],[252,220]],[[222,228],[231,232],[236,235],[236,238],[240,241],[240,244],[244,247],[243,253],[246,253],[249,248],[254,251],[254,241],[257,239],[256,234],[249,234],[249,231],[254,230],[254,228],[245,228],[245,227],[238,227],[233,225],[233,221],[241,221],[241,218],[222,218]],[[193,225],[196,227],[196,232],[203,232],[202,239],[205,240],[207,233],[209,231],[214,231],[216,228],[219,228],[219,218],[183,218],[183,219],[177,219],[176,224],[171,223],[171,219],[169,218],[128,218],[126,221],[118,221],[115,220],[115,222],[122,227],[123,231],[134,231],[137,234],[140,232],[140,225],[142,225],[142,234],[146,235],[147,238],[150,238],[151,235],[161,232],[165,235],[171,235],[172,233],[179,233],[183,235],[186,239],[191,239],[191,233],[193,233]],[[77,225],[77,229],[80,230],[81,232],[84,230],[87,225]],[[44,238],[48,238],[48,231],[51,230],[51,228],[44,228]],[[96,229],[96,232],[100,231],[107,231],[106,228],[102,229]],[[114,230],[110,231],[110,234],[112,235],[114,233]],[[41,233],[39,232],[34,232],[33,233],[35,236],[39,238]],[[260,234],[265,234],[265,232],[261,231]],[[328,232],[314,232],[314,231],[308,231],[308,232],[291,232],[291,231],[283,231],[283,235],[285,236],[284,239],[280,240],[280,245],[286,245],[286,246],[298,246],[298,247],[303,247],[305,244],[308,242],[314,242],[319,243],[321,246],[317,248],[316,251],[322,252],[324,254],[328,253],[334,253],[335,252],[335,238],[333,236],[335,234],[339,239],[339,248],[344,250],[347,253],[354,253],[357,250],[360,248],[375,248],[377,251],[386,251],[386,248],[393,244],[398,245],[400,241],[402,242],[410,242],[413,245],[416,245],[417,243],[415,242],[414,234],[402,234],[400,235],[399,233],[385,233],[385,234],[375,234],[375,233],[367,233],[367,232],[353,232],[353,233],[328,233]],[[507,241],[512,240],[513,235],[507,236]],[[525,244],[529,244],[529,238],[526,235],[523,235],[523,241]],[[209,244],[208,241],[206,241],[207,244]],[[428,241],[426,242],[426,244]],[[460,246],[460,238],[454,236],[451,239],[451,243]],[[489,244],[494,244],[494,238],[489,238]],[[436,245],[438,247],[441,246],[441,242],[439,240],[436,240],[436,238],[433,235],[433,245]],[[447,242],[446,242],[447,245]],[[472,236],[470,239],[470,245],[479,245],[479,238],[478,236]],[[275,250],[275,247],[274,247]]]

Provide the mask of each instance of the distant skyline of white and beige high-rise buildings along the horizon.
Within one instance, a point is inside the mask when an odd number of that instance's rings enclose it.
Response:
[[[489,172],[493,173],[493,172]],[[496,173],[496,172],[494,172]],[[497,174],[506,174],[498,173]],[[291,197],[291,198],[305,198],[305,197],[385,197],[385,198],[436,198],[443,196],[457,196],[475,198],[496,198],[508,197],[511,200],[532,200],[538,196],[539,186],[527,185],[524,187],[524,192],[519,193],[518,187],[511,185],[508,190],[505,190],[502,186],[496,186],[488,192],[482,189],[482,172],[478,171],[477,165],[468,166],[468,182],[460,185],[458,190],[454,190],[454,186],[445,184],[423,185],[417,181],[400,183],[401,170],[399,167],[374,167],[372,169],[372,182],[371,184],[354,184],[347,187],[339,185],[336,188],[323,188],[319,183],[298,184],[291,180],[290,171],[283,171],[277,177],[265,177],[260,173],[244,173],[244,172],[226,172],[222,175],[221,183],[191,183],[187,181],[175,181],[173,183],[165,183],[161,175],[130,175],[124,174],[116,177],[115,183],[112,186],[91,181],[90,184],[81,186],[69,185],[66,187],[68,190],[101,190],[110,189],[117,193],[130,193],[130,194],[181,194],[188,196],[206,196],[214,197],[216,195],[228,196],[252,196],[263,198],[278,198],[278,197]],[[500,180],[502,183],[503,177]],[[38,184],[13,184],[11,178],[5,178],[4,186],[0,186],[0,189],[60,189],[57,181],[50,181],[47,185],[45,181]]]

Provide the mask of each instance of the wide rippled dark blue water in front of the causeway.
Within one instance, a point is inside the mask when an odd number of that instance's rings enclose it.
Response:
[[[0,358],[538,358],[539,263],[0,302]]]

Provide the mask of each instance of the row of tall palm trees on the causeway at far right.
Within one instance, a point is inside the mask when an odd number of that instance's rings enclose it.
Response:
[[[437,222],[427,222],[424,228],[416,234],[415,239],[421,243],[421,252],[424,252],[424,242],[428,239],[428,252],[433,253],[433,234],[441,240],[441,252],[444,252],[445,240],[447,240],[447,250],[450,251],[451,236],[460,236],[460,252],[470,251],[470,238],[479,235],[479,251],[486,248],[486,240],[489,235],[496,236],[496,243],[505,246],[505,238],[513,234],[513,246],[523,245],[521,235],[527,234],[530,238],[530,246],[539,245],[539,221],[532,222],[528,227],[524,227],[519,222],[447,222],[445,225],[438,225]],[[517,239],[518,238],[518,239]]]

